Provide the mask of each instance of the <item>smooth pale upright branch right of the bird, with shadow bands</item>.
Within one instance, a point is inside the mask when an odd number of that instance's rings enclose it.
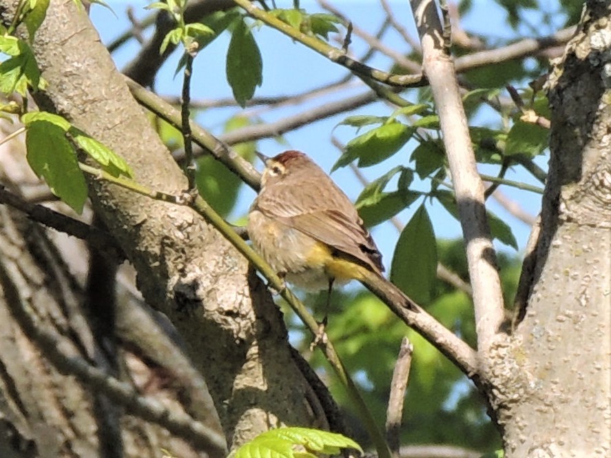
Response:
[[[504,318],[501,281],[490,237],[484,183],[477,172],[462,99],[453,63],[444,50],[442,25],[434,1],[411,0],[428,77],[441,123],[448,163],[455,187],[459,217],[466,241],[477,348],[487,355]]]

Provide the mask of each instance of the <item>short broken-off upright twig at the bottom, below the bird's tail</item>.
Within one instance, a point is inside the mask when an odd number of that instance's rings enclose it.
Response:
[[[413,351],[413,345],[407,337],[404,337],[401,341],[399,356],[395,363],[395,370],[393,370],[389,406],[386,409],[386,441],[389,443],[393,458],[400,457],[399,432],[401,428],[401,419],[403,417],[403,401],[405,399],[405,390],[409,379],[409,369],[411,367]]]

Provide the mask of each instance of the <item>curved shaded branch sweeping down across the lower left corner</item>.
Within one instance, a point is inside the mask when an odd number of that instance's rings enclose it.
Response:
[[[163,426],[172,434],[183,437],[206,450],[211,456],[225,457],[227,445],[225,437],[216,431],[194,420],[179,410],[169,410],[158,401],[147,399],[134,390],[132,386],[105,374],[103,370],[90,366],[85,359],[66,355],[61,349],[60,339],[41,328],[39,319],[28,297],[21,295],[21,280],[17,278],[19,269],[6,257],[0,258],[0,283],[7,297],[6,303],[21,329],[32,340],[37,342],[39,350],[65,375],[78,377],[92,390],[101,392],[109,399],[125,406],[132,413],[145,421]]]

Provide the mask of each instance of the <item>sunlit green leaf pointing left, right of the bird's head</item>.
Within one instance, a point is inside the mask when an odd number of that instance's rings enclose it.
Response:
[[[347,166],[355,159],[358,159],[359,167],[380,163],[400,150],[414,132],[413,128],[397,121],[369,130],[348,142],[331,171]]]

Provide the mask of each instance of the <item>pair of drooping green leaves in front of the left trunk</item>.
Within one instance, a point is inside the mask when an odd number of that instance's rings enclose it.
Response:
[[[87,183],[79,168],[75,147],[115,177],[132,177],[130,166],[121,157],[63,117],[31,112],[23,115],[21,121],[26,128],[25,147],[30,167],[48,183],[54,195],[76,212],[83,210]]]

